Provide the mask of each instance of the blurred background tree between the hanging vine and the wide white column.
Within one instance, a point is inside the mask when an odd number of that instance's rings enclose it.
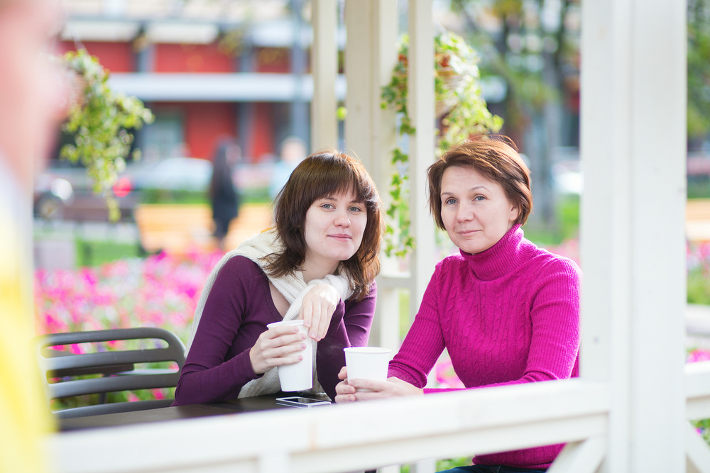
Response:
[[[506,86],[501,133],[530,160],[535,215],[557,225],[552,165],[579,146],[579,0],[452,0],[461,34],[481,55],[481,72]]]

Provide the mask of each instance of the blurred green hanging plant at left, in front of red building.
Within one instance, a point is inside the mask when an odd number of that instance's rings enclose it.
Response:
[[[111,188],[126,169],[125,158],[133,143],[129,130],[151,123],[153,113],[136,97],[112,91],[108,84],[109,73],[87,50],[67,52],[60,61],[75,74],[77,82],[75,100],[62,126],[74,135],[75,143],[62,146],[60,158],[81,162],[87,168],[94,193],[106,199],[109,220],[117,221],[121,212]],[[133,152],[136,159],[137,153],[138,150]]]

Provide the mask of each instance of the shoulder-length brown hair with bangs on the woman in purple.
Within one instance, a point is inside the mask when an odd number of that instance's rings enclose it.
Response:
[[[329,148],[313,153],[294,169],[276,196],[275,228],[285,250],[268,262],[267,272],[280,277],[300,269],[305,260],[304,223],[306,212],[314,201],[352,191],[365,204],[367,223],[362,243],[342,268],[353,282],[354,299],[367,295],[369,286],[380,272],[380,242],[384,230],[382,204],[365,167],[344,152]]]

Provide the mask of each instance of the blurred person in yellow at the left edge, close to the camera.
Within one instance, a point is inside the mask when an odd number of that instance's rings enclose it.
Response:
[[[48,55],[61,18],[55,0],[0,0],[0,472],[46,469],[40,435],[48,401],[30,350],[33,173],[65,111]]]

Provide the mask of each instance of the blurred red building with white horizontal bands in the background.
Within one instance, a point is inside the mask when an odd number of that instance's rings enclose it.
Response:
[[[261,162],[288,136],[309,143],[310,25],[300,16],[146,18],[70,10],[58,48],[86,48],[111,72],[114,89],[151,108],[155,122],[136,133],[146,158],[210,159],[219,140],[234,138],[245,162]]]

